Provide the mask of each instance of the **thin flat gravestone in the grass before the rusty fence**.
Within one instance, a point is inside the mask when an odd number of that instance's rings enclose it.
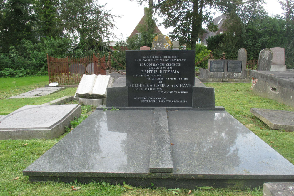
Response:
[[[7,99],[20,99],[20,98],[33,98],[33,97],[41,97],[44,95],[49,95],[52,93],[56,93],[58,91],[61,91],[63,89],[65,89],[66,87],[58,87],[58,86],[54,86],[54,87],[41,87],[41,88],[36,88],[34,90],[31,90],[29,92],[26,93],[21,93],[17,96],[12,96],[9,97]]]

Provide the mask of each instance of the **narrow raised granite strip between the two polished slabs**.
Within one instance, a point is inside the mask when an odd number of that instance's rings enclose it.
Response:
[[[172,173],[171,139],[168,133],[166,108],[154,110],[153,131],[151,141],[150,173]]]

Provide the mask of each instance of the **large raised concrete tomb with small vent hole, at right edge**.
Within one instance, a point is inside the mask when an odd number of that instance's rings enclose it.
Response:
[[[256,71],[252,70],[252,93],[294,106],[294,70]]]

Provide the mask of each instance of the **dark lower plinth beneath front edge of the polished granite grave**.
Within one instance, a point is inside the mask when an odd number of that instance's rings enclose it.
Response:
[[[269,179],[186,179],[186,178],[163,178],[163,177],[148,177],[146,175],[142,178],[133,178],[133,177],[64,177],[64,176],[29,176],[31,182],[40,182],[40,181],[54,181],[54,182],[75,182],[76,180],[81,183],[91,183],[93,180],[95,182],[108,182],[110,184],[121,184],[125,182],[128,185],[133,185],[136,187],[166,187],[166,188],[185,188],[185,189],[195,189],[195,185],[202,187],[212,185],[213,188],[241,188],[243,187],[254,188],[261,187],[264,182],[288,182],[289,180],[269,180]]]

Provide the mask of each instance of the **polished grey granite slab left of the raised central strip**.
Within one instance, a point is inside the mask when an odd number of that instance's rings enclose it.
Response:
[[[24,175],[149,173],[153,111],[96,110],[24,170]]]

